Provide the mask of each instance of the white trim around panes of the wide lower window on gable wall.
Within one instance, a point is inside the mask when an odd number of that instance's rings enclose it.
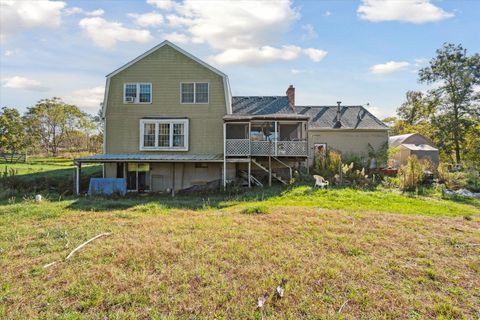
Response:
[[[145,133],[145,124],[153,123],[155,124],[155,146],[154,147],[145,147],[143,145],[144,133]],[[170,146],[169,147],[158,147],[158,130],[159,124],[168,123],[170,125]],[[183,124],[184,125],[184,146],[183,147],[174,147],[173,146],[173,125],[174,124]],[[140,151],[188,151],[188,129],[189,129],[189,119],[141,119],[140,120]]]

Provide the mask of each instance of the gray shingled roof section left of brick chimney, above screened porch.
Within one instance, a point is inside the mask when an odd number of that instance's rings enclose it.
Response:
[[[233,114],[292,114],[287,96],[232,97]]]

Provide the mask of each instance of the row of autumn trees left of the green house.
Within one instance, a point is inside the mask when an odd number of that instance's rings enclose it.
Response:
[[[102,148],[99,115],[54,97],[40,100],[21,115],[16,108],[0,110],[0,153],[46,154],[97,153]]]

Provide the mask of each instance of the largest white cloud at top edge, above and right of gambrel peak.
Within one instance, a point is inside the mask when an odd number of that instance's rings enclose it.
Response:
[[[176,6],[177,23],[196,43],[215,49],[261,47],[280,39],[299,17],[290,1],[197,1]],[[168,18],[174,21],[173,16]]]

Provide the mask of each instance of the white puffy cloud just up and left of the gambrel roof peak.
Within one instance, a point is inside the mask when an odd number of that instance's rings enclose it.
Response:
[[[99,17],[83,18],[79,26],[85,31],[87,37],[101,48],[111,48],[118,41],[145,43],[152,40],[148,30],[126,28],[119,22],[111,22]]]

